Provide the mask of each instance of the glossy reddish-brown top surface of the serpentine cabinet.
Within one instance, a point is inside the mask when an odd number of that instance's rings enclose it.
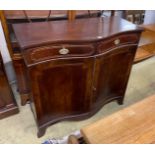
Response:
[[[141,31],[136,25],[120,17],[76,19],[13,24],[21,49],[50,43],[91,42],[132,31]]]

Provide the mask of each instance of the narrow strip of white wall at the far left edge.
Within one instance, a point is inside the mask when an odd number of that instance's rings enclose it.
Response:
[[[0,21],[0,51],[1,51],[4,63],[11,61],[1,21]]]

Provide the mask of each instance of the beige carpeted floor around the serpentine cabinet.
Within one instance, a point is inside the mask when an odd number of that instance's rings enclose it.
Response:
[[[90,119],[57,123],[50,126],[41,138],[37,138],[37,128],[29,105],[20,106],[16,85],[12,85],[12,88],[19,104],[20,113],[0,120],[0,143],[42,143],[48,138],[61,139],[87,124],[155,94],[155,57],[134,65],[124,105],[119,106],[116,102],[111,102]]]

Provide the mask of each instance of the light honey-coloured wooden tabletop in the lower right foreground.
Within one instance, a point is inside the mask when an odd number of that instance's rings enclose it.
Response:
[[[90,144],[155,143],[155,95],[81,129]]]

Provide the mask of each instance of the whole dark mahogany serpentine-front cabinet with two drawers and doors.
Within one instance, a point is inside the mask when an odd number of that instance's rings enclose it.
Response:
[[[123,104],[141,28],[120,17],[13,25],[38,137],[62,120]]]

